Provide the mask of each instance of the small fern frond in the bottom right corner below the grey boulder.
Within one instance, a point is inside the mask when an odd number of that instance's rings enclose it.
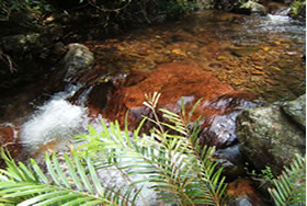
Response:
[[[306,203],[306,157],[297,154],[293,163],[285,168],[277,180],[273,180],[273,188],[269,193],[275,205],[305,205]]]

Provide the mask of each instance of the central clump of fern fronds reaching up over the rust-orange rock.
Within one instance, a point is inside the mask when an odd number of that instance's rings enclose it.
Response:
[[[169,123],[161,123],[155,111],[159,96],[154,94],[155,100],[145,104],[152,110],[155,119],[150,121],[157,125],[157,128],[151,129],[150,136],[139,137],[140,126],[130,134],[127,127],[122,131],[117,122],[110,123],[107,127],[102,121],[104,130],[101,134],[91,131],[90,127],[90,135],[78,138],[84,139],[86,144],[91,146],[90,153],[100,152],[107,159],[107,165],[104,162],[101,167],[116,167],[127,176],[144,176],[141,181],[129,180],[133,185],[154,183],[152,188],[157,192],[158,199],[163,203],[219,205],[226,184],[221,178],[223,169],[217,169],[217,163],[212,158],[215,149],[200,147],[197,123],[191,127],[185,117],[162,108],[160,112]],[[184,113],[185,111],[182,112]],[[189,113],[189,117],[191,115]],[[79,149],[89,151],[89,148],[83,146]]]

